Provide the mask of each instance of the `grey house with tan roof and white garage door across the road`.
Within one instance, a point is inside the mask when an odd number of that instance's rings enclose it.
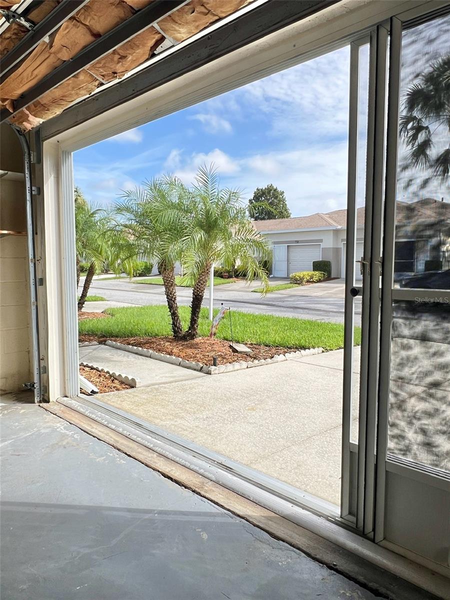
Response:
[[[314,260],[329,260],[331,276],[345,277],[346,209],[316,212],[307,217],[254,221],[254,227],[274,248],[272,275],[289,277],[311,271]],[[358,208],[356,261],[364,253],[364,206]],[[433,261],[427,264],[425,262]],[[430,268],[431,266],[437,268]],[[433,198],[397,202],[395,274],[450,268],[450,203]],[[361,280],[359,262],[356,279]]]

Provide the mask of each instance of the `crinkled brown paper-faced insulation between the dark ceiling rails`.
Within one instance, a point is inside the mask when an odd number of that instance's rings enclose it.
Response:
[[[161,19],[158,26],[175,41],[186,40],[250,1],[191,0]],[[8,77],[0,92],[1,103],[12,111],[13,102],[20,95],[150,2],[151,0],[90,0],[50,36],[48,43],[41,42],[17,71]],[[40,7],[46,6],[47,10],[50,5],[54,8],[57,4],[54,0],[46,0]],[[29,130],[41,121],[59,115],[79,98],[91,94],[101,83],[119,79],[147,61],[163,41],[163,35],[154,27],[149,27],[17,112],[10,121]],[[2,46],[2,50],[7,46],[8,44]]]

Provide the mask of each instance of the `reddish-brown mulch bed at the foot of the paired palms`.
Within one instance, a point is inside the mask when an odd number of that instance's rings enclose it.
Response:
[[[273,358],[276,354],[295,352],[297,348],[282,348],[275,346],[258,346],[257,344],[245,344],[252,353],[238,354],[232,352],[230,342],[217,340],[215,338],[197,338],[193,341],[178,341],[171,337],[148,337],[148,338],[104,338],[95,335],[80,335],[82,341],[105,342],[107,339],[128,344],[128,346],[139,346],[162,354],[170,354],[187,361],[200,362],[203,365],[212,365],[212,358],[217,356],[217,364],[224,365],[229,362],[256,361],[264,358]]]

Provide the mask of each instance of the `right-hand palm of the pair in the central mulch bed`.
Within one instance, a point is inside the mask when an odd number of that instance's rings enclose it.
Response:
[[[221,264],[231,269],[238,264],[247,272],[249,281],[259,277],[268,289],[267,272],[259,261],[271,260],[271,250],[251,224],[241,193],[220,188],[214,166],[199,168],[189,202],[182,262],[184,278],[193,285],[193,290],[190,323],[184,339],[194,340],[211,266]]]

